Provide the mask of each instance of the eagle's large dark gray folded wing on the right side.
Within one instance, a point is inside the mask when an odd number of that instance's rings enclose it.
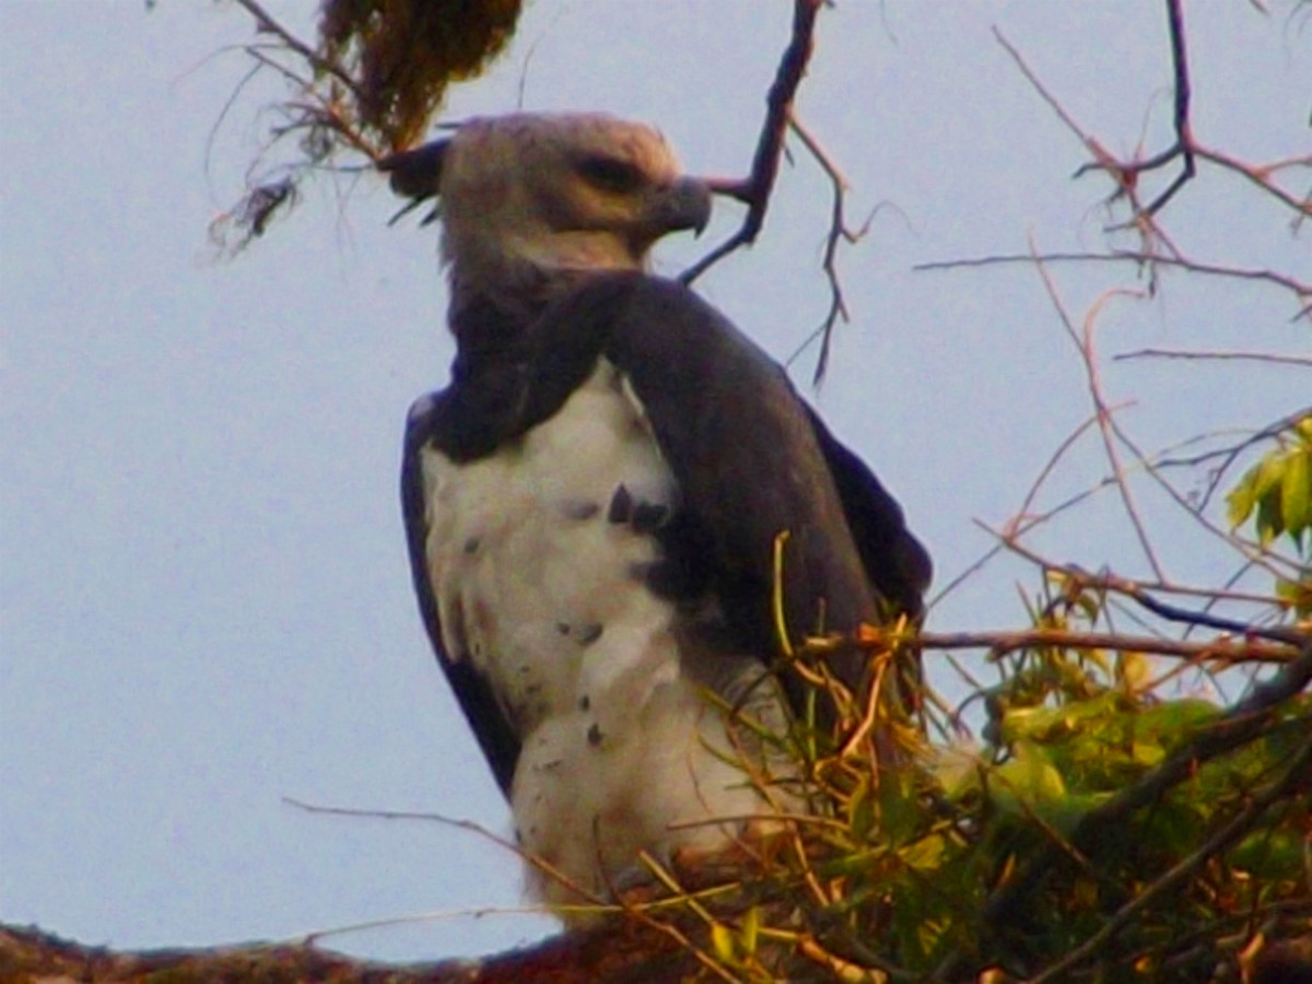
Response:
[[[777,649],[782,530],[794,640],[880,622],[890,609],[920,613],[929,562],[901,509],[783,370],[695,294],[617,274],[581,287],[543,321],[543,345],[560,333],[600,336],[602,354],[627,375],[681,491],[682,518],[664,534],[676,580],[714,594],[735,642]],[[842,659],[836,672],[858,682],[865,660]]]

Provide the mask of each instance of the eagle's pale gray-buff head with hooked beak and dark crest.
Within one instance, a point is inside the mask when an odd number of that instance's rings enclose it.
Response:
[[[379,168],[398,194],[438,199],[457,306],[541,304],[590,273],[644,269],[657,239],[701,231],[711,207],[656,130],[600,113],[471,119]]]

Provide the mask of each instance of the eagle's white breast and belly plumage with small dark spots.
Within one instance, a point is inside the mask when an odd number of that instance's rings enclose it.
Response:
[[[724,761],[736,745],[698,680],[743,690],[761,664],[715,653],[699,673],[676,642],[674,606],[642,577],[656,541],[607,521],[621,484],[635,501],[672,505],[676,493],[615,367],[598,362],[555,416],[488,458],[422,455],[442,643],[492,682],[522,741],[510,800],[523,849],[605,895],[642,849],[724,846],[737,824],[670,829],[765,808]],[[766,693],[779,728],[782,702]],[[533,880],[548,903],[579,901]]]

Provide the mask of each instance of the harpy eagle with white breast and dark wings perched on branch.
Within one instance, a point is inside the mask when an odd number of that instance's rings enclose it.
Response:
[[[437,198],[457,341],[405,426],[415,586],[523,851],[563,876],[530,866],[530,890],[604,897],[643,850],[798,808],[761,737],[803,701],[771,672],[775,588],[800,639],[918,614],[930,565],[783,370],[647,272],[707,185],[600,114],[474,119],[380,167]],[[865,660],[832,668],[857,685]]]

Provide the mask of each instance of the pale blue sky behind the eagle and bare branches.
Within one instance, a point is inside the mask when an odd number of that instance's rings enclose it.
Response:
[[[1308,14],[1190,4],[1195,129],[1253,159],[1305,154]],[[270,4],[304,29],[311,4]],[[450,115],[605,109],[660,126],[690,171],[748,161],[786,39],[783,3],[537,0]],[[800,98],[870,236],[842,256],[853,324],[819,403],[886,479],[946,584],[988,546],[1088,415],[1077,359],[1027,269],[913,274],[926,260],[1099,248],[1106,185],[993,41],[1000,26],[1115,151],[1169,135],[1160,4],[846,0],[823,14]],[[451,357],[432,231],[387,228],[373,178],[323,180],[231,262],[206,226],[258,139],[255,87],[219,122],[251,37],[231,4],[0,0],[0,918],[87,942],[203,945],[518,903],[518,862],[468,832],[308,816],[281,802],[436,811],[504,832],[506,810],[411,597],[396,505],[409,401]],[[261,96],[262,93],[262,96]],[[211,140],[213,136],[213,140]],[[782,172],[760,247],[699,285],[787,356],[819,323],[828,185]],[[670,243],[674,272],[701,244]],[[1202,260],[1312,276],[1287,216],[1207,176],[1168,224]],[[1056,270],[1076,316],[1132,269]],[[1169,277],[1115,302],[1106,353],[1308,352],[1261,286]],[[1292,369],[1117,363],[1114,400],[1157,447],[1307,403]],[[810,362],[798,369],[806,380]],[[1094,443],[1048,504],[1102,474]],[[1173,576],[1231,560],[1161,501]],[[1036,539],[1144,571],[1113,496]],[[1022,618],[997,564],[941,628]],[[550,924],[450,917],[340,937],[378,956],[472,954]]]

